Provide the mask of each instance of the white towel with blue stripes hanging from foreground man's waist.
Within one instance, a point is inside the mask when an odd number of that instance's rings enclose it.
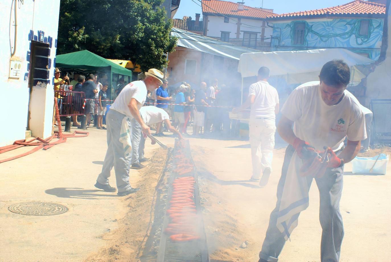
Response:
[[[301,177],[299,173],[302,164],[303,161],[294,152],[289,163],[277,217],[277,228],[283,233],[285,240],[289,239],[296,228],[300,212],[308,207],[307,177]]]

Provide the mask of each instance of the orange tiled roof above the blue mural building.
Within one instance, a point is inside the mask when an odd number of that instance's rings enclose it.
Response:
[[[269,18],[299,18],[303,16],[326,16],[326,15],[385,15],[386,5],[364,0],[355,0],[348,4],[337,5],[324,9],[302,11],[296,13],[286,13],[271,15]]]

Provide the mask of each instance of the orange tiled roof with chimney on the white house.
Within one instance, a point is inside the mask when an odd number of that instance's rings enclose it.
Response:
[[[238,4],[221,0],[201,0],[202,13],[224,14],[248,18],[266,18],[274,14],[273,9],[262,9],[244,5],[243,11],[238,11]]]

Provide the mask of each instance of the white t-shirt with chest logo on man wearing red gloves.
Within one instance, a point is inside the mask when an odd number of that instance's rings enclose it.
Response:
[[[365,117],[360,103],[344,91],[337,105],[326,105],[319,85],[297,87],[281,109],[282,114],[294,121],[294,134],[323,151],[323,146],[339,150],[345,137],[350,141],[366,139]]]

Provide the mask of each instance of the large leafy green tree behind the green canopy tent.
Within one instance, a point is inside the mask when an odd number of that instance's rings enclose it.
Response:
[[[162,69],[177,39],[163,0],[61,0],[57,54],[87,49]]]

